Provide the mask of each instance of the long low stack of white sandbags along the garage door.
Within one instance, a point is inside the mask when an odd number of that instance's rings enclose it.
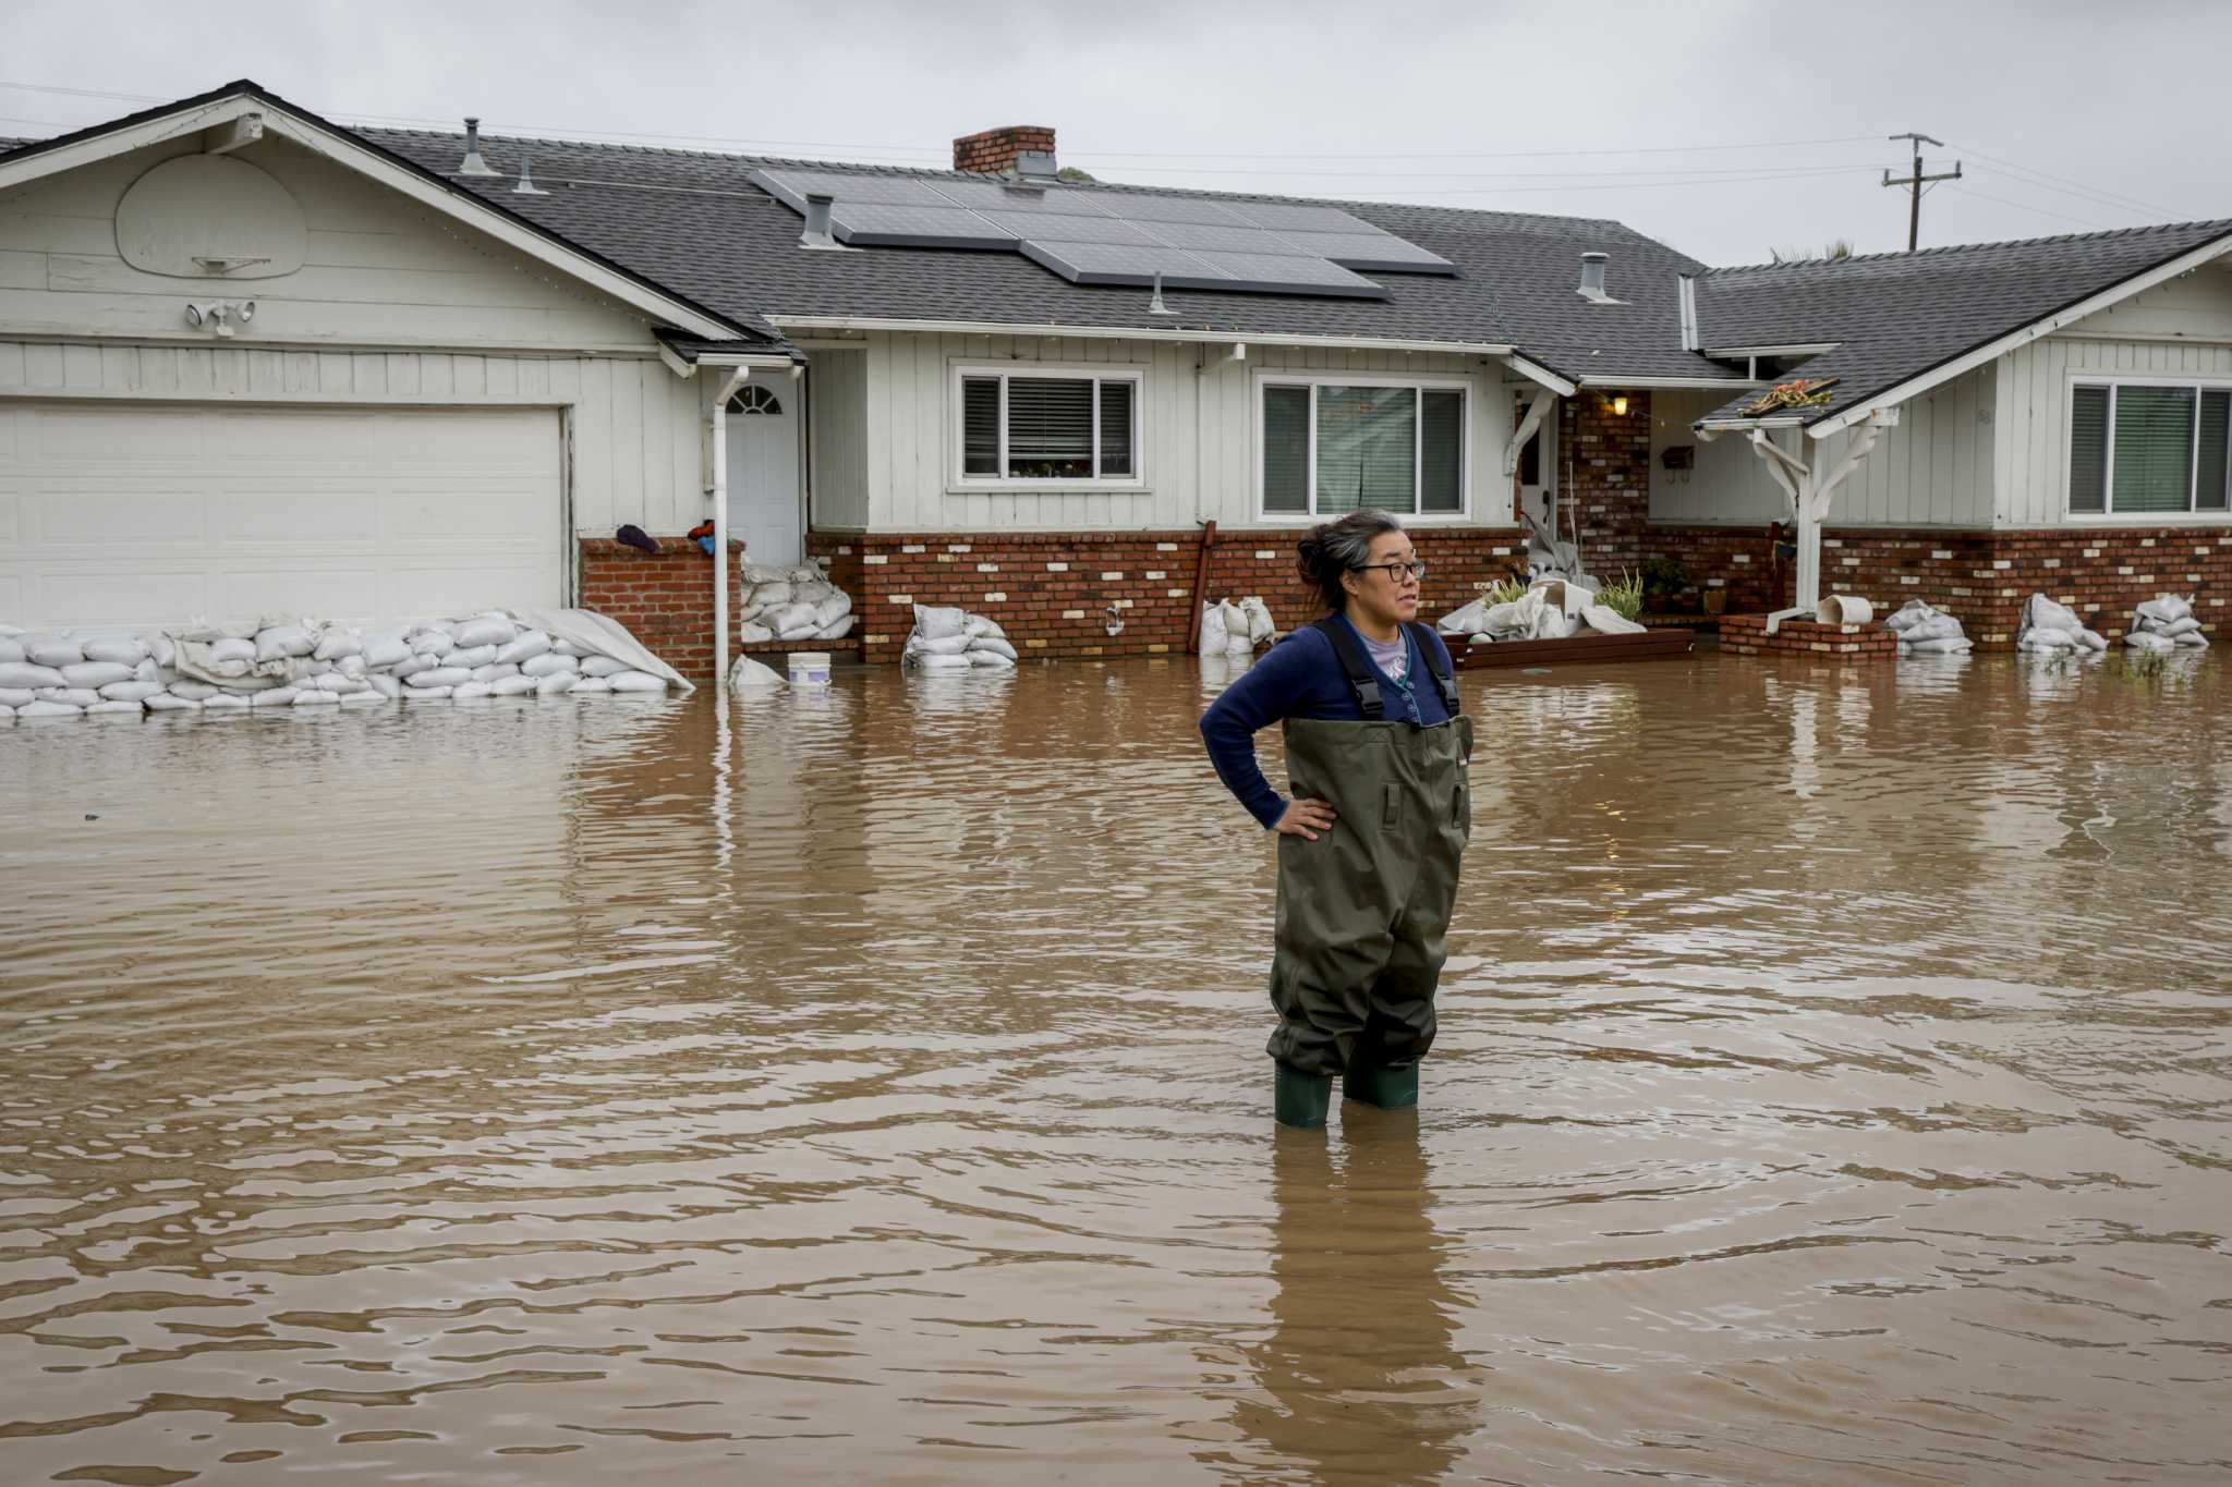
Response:
[[[268,618],[145,635],[0,631],[0,707],[16,718],[663,693],[670,684],[687,689],[620,624],[569,609],[375,629]]]

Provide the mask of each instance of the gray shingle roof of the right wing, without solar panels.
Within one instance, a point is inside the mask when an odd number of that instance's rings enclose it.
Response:
[[[1839,341],[1792,372],[1839,379],[1803,412],[1815,424],[2225,234],[2232,221],[1716,268],[1696,285],[1699,330],[1710,348]]]

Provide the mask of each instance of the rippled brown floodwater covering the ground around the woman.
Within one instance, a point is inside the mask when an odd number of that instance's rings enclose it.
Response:
[[[0,1480],[2232,1474],[2216,658],[1469,676],[1326,1133],[1219,684],[0,731]]]

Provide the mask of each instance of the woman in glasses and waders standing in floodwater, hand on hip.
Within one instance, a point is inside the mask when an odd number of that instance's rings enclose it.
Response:
[[[1201,716],[1216,776],[1279,834],[1270,965],[1274,1106],[1283,1126],[1324,1126],[1333,1077],[1386,1110],[1417,1104],[1433,1046],[1433,990],[1473,834],[1449,649],[1417,624],[1417,562],[1402,522],[1353,511],[1297,544],[1326,618],[1274,644]],[[1254,760],[1281,722],[1283,800]]]

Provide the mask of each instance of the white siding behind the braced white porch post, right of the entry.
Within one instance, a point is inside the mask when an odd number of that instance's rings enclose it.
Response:
[[[1790,497],[1761,466],[1743,435],[1705,444],[1692,424],[1728,401],[1719,390],[1652,392],[1652,519],[1766,526],[1792,517]],[[1993,513],[1995,377],[1980,368],[1899,408],[1897,428],[1837,490],[1830,526],[1984,526]],[[1788,430],[1777,435],[1797,448]],[[1694,444],[1690,479],[1661,464],[1667,446]],[[1850,435],[1830,435],[1828,461],[1844,459]],[[1806,439],[1808,457],[1824,450]]]

